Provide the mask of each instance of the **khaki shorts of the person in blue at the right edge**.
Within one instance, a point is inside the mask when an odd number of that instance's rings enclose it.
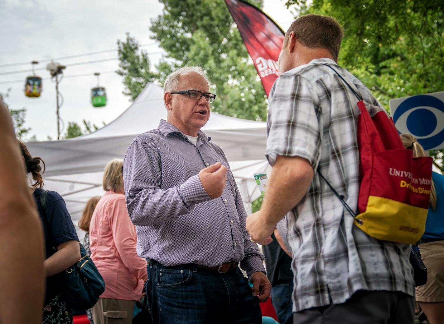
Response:
[[[416,287],[416,301],[444,301],[444,240],[420,244],[427,283]]]

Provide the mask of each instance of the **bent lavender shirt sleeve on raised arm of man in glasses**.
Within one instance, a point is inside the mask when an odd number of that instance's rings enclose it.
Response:
[[[123,163],[123,183],[128,214],[135,225],[155,225],[189,213],[195,204],[209,201],[194,175],[180,186],[161,189],[160,154],[155,143],[136,139]]]

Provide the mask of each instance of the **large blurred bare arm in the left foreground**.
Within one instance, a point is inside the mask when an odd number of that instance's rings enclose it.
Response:
[[[0,323],[40,324],[42,225],[26,182],[11,117],[1,101],[0,156],[0,187],[7,189],[0,195]]]

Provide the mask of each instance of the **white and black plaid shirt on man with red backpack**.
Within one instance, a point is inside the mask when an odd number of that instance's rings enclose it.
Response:
[[[293,311],[341,304],[359,289],[414,296],[410,245],[379,241],[353,225],[353,217],[317,170],[357,210],[359,151],[357,98],[328,66],[361,93],[371,115],[381,105],[356,77],[328,58],[291,69],[270,92],[266,155],[307,159],[315,174],[302,201],[289,213],[293,253]]]

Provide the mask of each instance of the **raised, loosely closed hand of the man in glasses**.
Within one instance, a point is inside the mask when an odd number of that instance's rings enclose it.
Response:
[[[207,195],[211,198],[221,197],[226,184],[227,169],[221,162],[216,162],[200,170],[199,180]]]

